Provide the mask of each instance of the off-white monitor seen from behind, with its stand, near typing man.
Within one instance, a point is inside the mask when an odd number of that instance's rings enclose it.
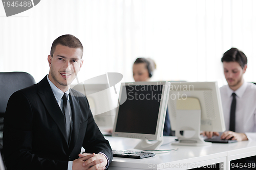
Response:
[[[200,137],[200,131],[225,131],[217,82],[171,82],[168,111],[170,125],[179,139],[172,144],[210,145]],[[190,135],[185,136],[180,131],[190,131]]]

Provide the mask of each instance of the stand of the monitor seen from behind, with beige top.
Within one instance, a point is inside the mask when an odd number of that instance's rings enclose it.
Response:
[[[193,105],[189,105],[189,104]],[[175,136],[179,142],[172,145],[189,145],[189,146],[205,146],[211,145],[211,142],[205,142],[200,137],[201,127],[201,107],[199,100],[196,98],[187,98],[186,100],[177,101],[177,117]],[[191,137],[180,134],[180,131],[195,131]],[[184,132],[185,133],[185,132]]]

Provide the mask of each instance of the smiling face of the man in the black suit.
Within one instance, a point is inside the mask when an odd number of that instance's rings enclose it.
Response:
[[[82,66],[81,49],[58,44],[53,56],[48,56],[49,79],[59,89],[68,90]]]

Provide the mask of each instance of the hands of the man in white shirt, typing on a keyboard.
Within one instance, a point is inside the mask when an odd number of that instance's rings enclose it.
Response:
[[[212,136],[220,136],[218,132],[203,132],[203,136],[207,136],[208,138],[211,138]],[[244,133],[237,133],[232,131],[226,131],[223,132],[221,135],[221,139],[229,139],[229,140],[248,140],[247,136]]]

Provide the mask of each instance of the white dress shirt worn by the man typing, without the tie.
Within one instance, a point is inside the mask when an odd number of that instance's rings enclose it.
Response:
[[[256,85],[244,82],[233,91],[228,85],[220,88],[226,131],[229,130],[232,93],[236,93],[236,132],[245,133],[249,140],[256,140]]]

